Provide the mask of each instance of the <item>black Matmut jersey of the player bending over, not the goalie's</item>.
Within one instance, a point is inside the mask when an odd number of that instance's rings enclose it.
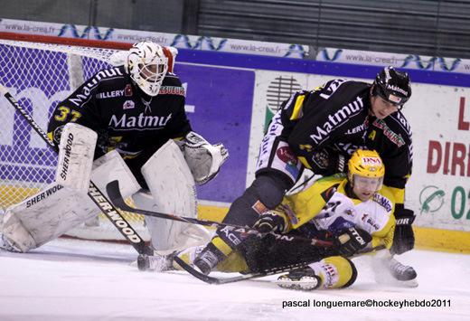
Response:
[[[281,137],[315,174],[333,175],[328,158],[349,156],[360,147],[376,150],[385,165],[384,184],[404,188],[412,167],[411,129],[400,111],[384,119],[369,116],[371,84],[331,80],[312,91],[297,92],[279,111]],[[329,153],[334,151],[334,153]]]

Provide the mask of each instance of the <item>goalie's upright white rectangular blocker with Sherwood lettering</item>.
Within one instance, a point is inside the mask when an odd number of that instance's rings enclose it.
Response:
[[[55,182],[87,193],[97,133],[88,127],[68,123],[63,127]]]

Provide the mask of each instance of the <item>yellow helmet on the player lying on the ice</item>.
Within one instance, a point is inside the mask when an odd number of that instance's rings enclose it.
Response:
[[[348,162],[348,179],[357,184],[375,184],[375,191],[381,189],[385,166],[375,150],[358,149]]]

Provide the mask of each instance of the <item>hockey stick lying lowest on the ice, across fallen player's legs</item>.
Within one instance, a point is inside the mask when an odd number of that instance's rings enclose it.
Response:
[[[357,258],[357,257],[362,256],[364,254],[369,254],[369,253],[372,253],[372,252],[375,252],[375,251],[378,251],[378,250],[384,250],[384,249],[385,249],[385,246],[379,245],[379,246],[376,246],[375,248],[372,248],[371,250],[365,250],[365,251],[359,252],[359,253],[353,255],[353,257],[351,257],[350,259]],[[274,274],[288,272],[292,269],[304,268],[305,266],[307,266],[310,263],[315,263],[317,260],[308,261],[308,262],[300,262],[300,263],[296,263],[296,264],[287,265],[285,267],[267,269],[267,270],[264,270],[264,271],[261,271],[261,272],[248,273],[248,274],[240,275],[240,276],[237,276],[237,277],[225,278],[225,279],[213,278],[213,277],[210,277],[208,275],[205,275],[205,274],[201,273],[200,271],[198,271],[197,269],[193,269],[192,266],[190,266],[189,264],[184,262],[182,259],[178,258],[178,256],[174,257],[174,261],[176,263],[178,263],[178,265],[182,269],[184,269],[186,272],[191,274],[194,278],[200,279],[200,280],[202,280],[202,282],[205,282],[205,283],[208,283],[208,284],[219,285],[219,284],[240,282],[240,281],[243,281],[243,280],[246,280],[246,279],[258,279],[258,278],[268,277],[268,276],[274,275]]]

